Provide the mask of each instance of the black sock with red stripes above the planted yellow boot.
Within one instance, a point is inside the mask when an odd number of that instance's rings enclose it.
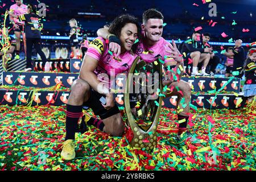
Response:
[[[67,117],[66,117],[66,137],[65,140],[75,139],[76,129],[78,122],[82,117],[82,106],[72,106],[67,104]]]

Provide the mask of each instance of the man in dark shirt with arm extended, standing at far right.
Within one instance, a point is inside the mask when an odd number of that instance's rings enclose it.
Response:
[[[232,75],[237,78],[242,78],[243,76],[243,64],[245,62],[245,49],[242,47],[242,40],[238,39],[235,42],[235,47],[233,52],[225,52],[226,56],[234,56]]]

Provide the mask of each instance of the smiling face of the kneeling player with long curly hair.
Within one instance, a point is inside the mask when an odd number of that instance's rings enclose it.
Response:
[[[121,30],[120,41],[121,41],[121,52],[130,51],[135,40],[138,38],[138,29],[136,24],[127,23]]]

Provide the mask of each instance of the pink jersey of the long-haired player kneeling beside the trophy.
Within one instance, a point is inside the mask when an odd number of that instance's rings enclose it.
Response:
[[[133,64],[137,55],[131,55],[130,52],[126,51],[119,55],[119,57],[114,57],[113,55],[110,55],[108,51],[109,44],[106,44],[103,38],[98,37],[90,42],[89,48],[85,54],[98,60],[98,66],[94,71],[98,78],[102,79],[101,73],[106,73],[109,78],[110,76],[116,76],[119,73],[128,73],[131,64]],[[107,83],[103,80],[100,81],[109,85],[109,82]]]

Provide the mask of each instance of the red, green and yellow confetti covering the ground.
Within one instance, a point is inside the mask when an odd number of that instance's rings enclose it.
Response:
[[[176,111],[163,108],[158,145],[151,153],[131,149],[125,136],[110,137],[89,127],[76,134],[76,158],[66,162],[60,158],[65,106],[0,105],[0,169],[256,170],[255,116],[246,108],[197,109],[189,122],[196,140],[177,145],[172,139],[177,132]]]

